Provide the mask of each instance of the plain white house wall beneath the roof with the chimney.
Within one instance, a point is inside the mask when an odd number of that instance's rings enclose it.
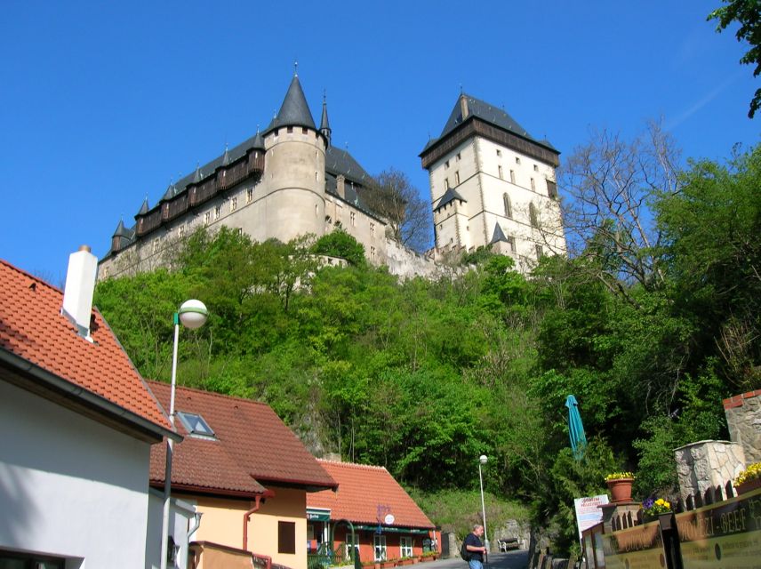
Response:
[[[142,567],[150,446],[0,381],[0,549]]]

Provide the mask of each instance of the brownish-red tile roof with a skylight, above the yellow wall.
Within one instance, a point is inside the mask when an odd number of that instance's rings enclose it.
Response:
[[[169,384],[148,383],[168,409]],[[263,493],[268,483],[335,487],[332,477],[269,405],[183,387],[177,388],[174,401],[175,411],[201,415],[216,440],[188,436],[177,419],[176,427],[185,439],[174,445],[172,485],[222,494]],[[154,485],[164,483],[164,456],[164,445],[151,449]]]

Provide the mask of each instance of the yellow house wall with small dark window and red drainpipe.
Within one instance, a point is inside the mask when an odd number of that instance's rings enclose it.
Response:
[[[248,550],[272,557],[273,563],[307,567],[307,494],[303,490],[274,488],[275,497],[262,501],[248,525]],[[204,516],[193,541],[212,541],[232,548],[243,547],[244,513],[254,505],[248,500],[228,500],[208,496],[182,496],[196,503]],[[295,523],[296,553],[277,553],[277,522]]]

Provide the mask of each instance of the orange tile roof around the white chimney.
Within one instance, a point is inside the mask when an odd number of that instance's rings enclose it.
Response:
[[[62,305],[60,289],[0,260],[0,349],[169,429],[169,420],[100,312],[92,310],[91,342],[60,314]]]

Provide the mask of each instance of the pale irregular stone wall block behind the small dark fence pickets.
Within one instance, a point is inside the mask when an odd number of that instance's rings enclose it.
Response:
[[[700,441],[674,450],[682,500],[724,487],[745,468],[745,453],[738,443]]]

